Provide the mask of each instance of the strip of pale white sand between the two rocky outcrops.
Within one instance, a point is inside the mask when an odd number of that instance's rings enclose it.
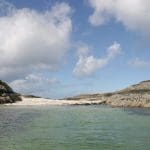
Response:
[[[52,100],[44,98],[26,98],[22,97],[22,101],[16,103],[8,103],[5,105],[13,106],[34,106],[34,105],[94,105],[102,104],[101,100],[89,101],[89,100]]]

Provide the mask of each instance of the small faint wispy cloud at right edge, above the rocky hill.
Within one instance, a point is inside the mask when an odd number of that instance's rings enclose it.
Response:
[[[140,58],[135,58],[129,61],[129,65],[136,68],[145,68],[145,67],[150,67],[150,62],[147,62]]]

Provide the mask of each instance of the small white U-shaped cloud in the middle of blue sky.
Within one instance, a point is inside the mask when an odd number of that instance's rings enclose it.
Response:
[[[73,70],[73,73],[77,77],[90,76],[98,69],[103,68],[107,65],[113,58],[121,53],[121,46],[119,43],[114,42],[107,49],[107,55],[104,58],[95,58],[89,55],[88,45],[81,45],[78,50],[78,61]]]

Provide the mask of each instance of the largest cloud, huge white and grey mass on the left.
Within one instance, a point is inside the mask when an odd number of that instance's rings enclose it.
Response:
[[[0,78],[57,69],[70,43],[71,7],[57,3],[51,10],[38,12],[4,2],[0,6],[9,11],[0,17]]]

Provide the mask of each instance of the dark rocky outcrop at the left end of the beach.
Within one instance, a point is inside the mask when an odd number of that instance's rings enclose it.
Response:
[[[0,104],[21,101],[19,94],[15,93],[7,83],[0,80]]]

